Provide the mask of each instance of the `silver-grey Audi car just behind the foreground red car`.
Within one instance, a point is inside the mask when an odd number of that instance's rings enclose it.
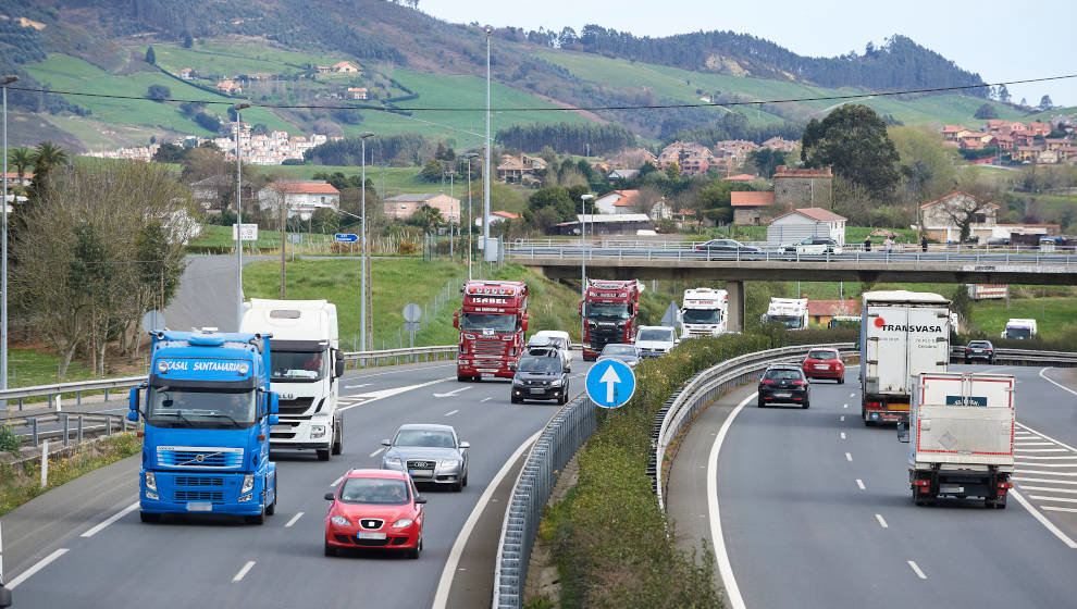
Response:
[[[446,484],[453,490],[468,485],[468,448],[451,425],[400,425],[382,456],[382,469],[408,472],[417,484]]]

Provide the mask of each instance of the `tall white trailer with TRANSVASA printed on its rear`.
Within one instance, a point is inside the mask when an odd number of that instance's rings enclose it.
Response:
[[[908,419],[912,377],[950,365],[950,300],[930,293],[868,291],[861,323],[865,425]]]

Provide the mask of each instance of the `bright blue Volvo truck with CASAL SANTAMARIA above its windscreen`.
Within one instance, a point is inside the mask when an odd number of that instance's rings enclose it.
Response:
[[[143,522],[165,513],[221,513],[263,523],[276,509],[269,438],[278,398],[270,391],[270,336],[150,335],[149,378],[131,390],[127,414],[145,421]]]

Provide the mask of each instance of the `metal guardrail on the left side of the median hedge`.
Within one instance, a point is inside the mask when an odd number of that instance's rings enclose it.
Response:
[[[494,562],[492,607],[519,608],[543,509],[565,464],[594,434],[595,403],[578,396],[550,419],[512,485]]]

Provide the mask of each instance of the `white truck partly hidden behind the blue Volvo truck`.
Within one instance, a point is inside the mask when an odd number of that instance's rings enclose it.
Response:
[[[336,306],[325,300],[244,302],[239,332],[273,335],[270,388],[281,396],[280,424],[270,449],[314,450],[320,461],[344,450],[344,420],[336,411],[344,374]]]

